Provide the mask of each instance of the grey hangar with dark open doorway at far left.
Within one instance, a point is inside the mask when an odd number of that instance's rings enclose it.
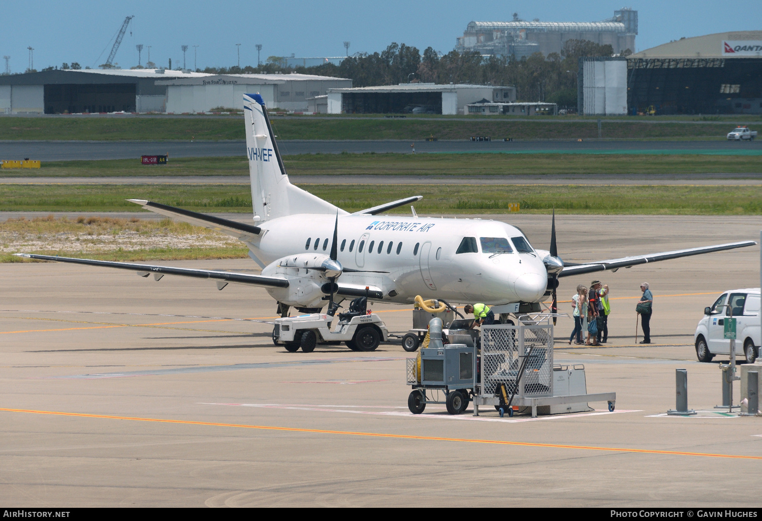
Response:
[[[53,70],[0,76],[0,113],[165,112],[158,79],[207,76],[165,69]]]

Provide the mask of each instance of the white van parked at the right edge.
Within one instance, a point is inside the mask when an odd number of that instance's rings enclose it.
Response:
[[[728,304],[730,308],[728,308]],[[754,363],[760,344],[760,289],[733,289],[719,296],[699,321],[696,333],[696,356],[699,362],[711,362],[716,354],[730,355],[730,340],[725,340],[725,317],[733,312],[735,321],[735,356]]]

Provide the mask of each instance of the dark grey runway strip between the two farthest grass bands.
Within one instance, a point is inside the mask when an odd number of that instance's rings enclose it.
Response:
[[[573,137],[573,136],[571,136]],[[546,139],[504,142],[472,142],[469,139],[427,142],[409,139],[322,140],[278,139],[282,155],[340,154],[341,152],[502,152],[563,154],[719,154],[759,155],[762,142],[728,142],[725,139],[702,141],[642,141],[619,139]],[[246,155],[244,140],[223,141],[0,141],[0,158],[32,158],[40,161],[132,159],[141,155],[168,154],[170,158],[220,157]]]

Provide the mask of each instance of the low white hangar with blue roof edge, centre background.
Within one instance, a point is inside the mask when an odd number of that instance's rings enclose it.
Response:
[[[515,87],[495,85],[403,83],[378,87],[329,88],[329,114],[410,113],[411,107],[427,107],[426,113],[463,114],[466,105],[488,99],[516,101]]]

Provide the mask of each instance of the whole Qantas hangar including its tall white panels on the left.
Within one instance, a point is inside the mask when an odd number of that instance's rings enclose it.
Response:
[[[762,113],[762,31],[683,38],[626,58],[581,58],[578,111]]]

